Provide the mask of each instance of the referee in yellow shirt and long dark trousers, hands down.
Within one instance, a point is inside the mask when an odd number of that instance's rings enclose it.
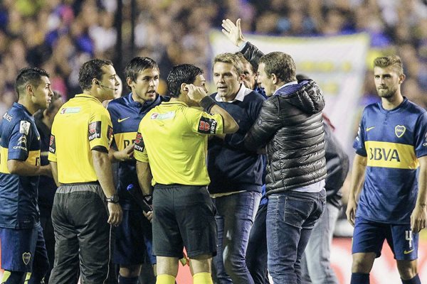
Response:
[[[48,159],[60,186],[52,209],[56,245],[49,283],[77,283],[79,271],[82,283],[108,277],[109,224],[121,222],[122,208],[108,159],[112,124],[101,103],[112,99],[116,76],[110,60],[85,62],[78,78],[83,94],[63,104],[53,121]]]

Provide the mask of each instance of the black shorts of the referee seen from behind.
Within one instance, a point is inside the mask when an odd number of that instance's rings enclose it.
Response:
[[[216,255],[215,207],[204,186],[155,185],[153,191],[155,256],[189,258]]]

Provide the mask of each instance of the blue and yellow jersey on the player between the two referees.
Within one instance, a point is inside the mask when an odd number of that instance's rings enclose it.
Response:
[[[107,110],[110,112],[114,132],[113,146],[121,151],[130,144],[133,144],[141,119],[148,111],[165,101],[169,101],[169,97],[157,95],[153,102],[140,104],[132,99],[132,93],[125,97],[112,100],[108,104]],[[123,209],[139,209],[138,205],[125,192],[129,186],[139,189],[136,160],[119,163],[117,192]]]

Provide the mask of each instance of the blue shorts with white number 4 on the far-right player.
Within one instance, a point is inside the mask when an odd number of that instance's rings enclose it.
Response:
[[[411,231],[411,224],[384,224],[356,218],[352,253],[376,253],[378,258],[384,240],[396,260],[413,261],[418,258],[418,234]]]

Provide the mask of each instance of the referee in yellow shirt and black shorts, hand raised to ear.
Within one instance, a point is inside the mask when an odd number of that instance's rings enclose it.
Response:
[[[144,194],[153,191],[153,252],[157,284],[174,284],[182,249],[195,284],[212,283],[216,254],[215,209],[206,188],[209,135],[233,133],[236,121],[206,93],[203,70],[178,65],[167,77],[170,102],[149,111],[135,141]],[[191,107],[203,107],[205,111]],[[151,175],[152,174],[152,175]]]

